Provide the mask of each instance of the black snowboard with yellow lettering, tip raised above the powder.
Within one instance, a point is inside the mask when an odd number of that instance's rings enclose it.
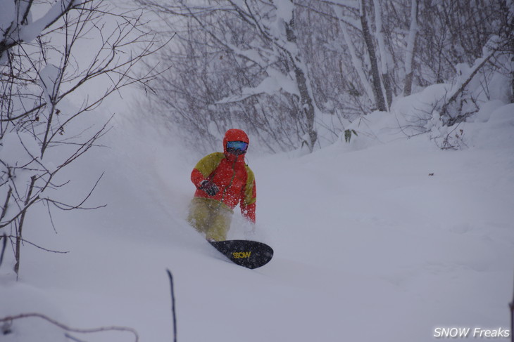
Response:
[[[232,263],[246,268],[259,268],[273,257],[273,249],[263,242],[251,240],[210,241],[215,249]]]

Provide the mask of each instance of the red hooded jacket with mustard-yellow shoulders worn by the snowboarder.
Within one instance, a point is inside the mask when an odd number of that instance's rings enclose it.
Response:
[[[196,186],[194,196],[215,199],[226,204],[230,209],[234,209],[239,204],[243,216],[255,223],[255,176],[244,163],[244,154],[237,156],[227,152],[228,141],[249,143],[249,138],[242,130],[230,129],[223,139],[224,152],[214,152],[200,159],[191,173],[191,180]],[[209,180],[217,185],[218,193],[209,196],[205,191],[200,190],[203,180]]]

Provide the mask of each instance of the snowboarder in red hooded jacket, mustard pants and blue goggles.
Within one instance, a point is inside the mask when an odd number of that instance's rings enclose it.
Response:
[[[196,192],[189,207],[189,223],[209,241],[227,239],[233,209],[255,224],[256,185],[253,172],[244,162],[249,138],[241,129],[229,129],[223,152],[200,159],[191,173]]]

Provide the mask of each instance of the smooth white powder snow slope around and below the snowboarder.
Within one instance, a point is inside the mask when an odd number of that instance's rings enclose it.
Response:
[[[70,169],[78,200],[105,171],[95,211],[32,211],[15,282],[0,268],[0,317],[43,313],[70,327],[132,327],[139,341],[432,341],[436,327],[509,329],[514,271],[514,105],[466,124],[469,148],[403,138],[391,114],[351,143],[313,154],[247,159],[257,230],[234,216],[230,237],[267,242],[275,257],[247,270],[184,221],[201,157],[157,129],[118,118],[109,148]],[[374,138],[370,138],[374,137]],[[250,137],[251,138],[251,137]],[[221,149],[221,147],[220,147]],[[433,173],[433,176],[430,176]],[[37,318],[2,342],[68,341]],[[126,331],[70,333],[134,341]],[[506,341],[506,338],[498,338]]]

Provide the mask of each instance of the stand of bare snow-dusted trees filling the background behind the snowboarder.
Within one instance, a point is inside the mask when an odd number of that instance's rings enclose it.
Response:
[[[163,20],[158,30],[177,32],[147,106],[209,148],[229,126],[272,151],[330,143],[347,120],[455,81],[511,21],[507,0],[139,3]]]

